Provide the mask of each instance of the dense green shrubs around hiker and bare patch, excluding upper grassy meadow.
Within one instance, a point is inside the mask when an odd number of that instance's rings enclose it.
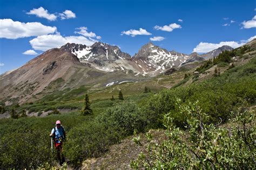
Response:
[[[124,101],[94,101],[92,115],[81,116],[83,103],[73,102],[78,110],[68,114],[2,119],[0,167],[37,168],[46,163],[54,166],[55,154],[48,136],[52,122],[60,119],[68,136],[64,154],[72,167],[80,167],[87,158],[99,157],[134,131],[162,128],[166,129],[167,139],[159,144],[152,142],[149,153],[132,162],[133,168],[255,168],[255,126],[251,126],[255,123],[255,68],[254,56],[245,65],[234,66],[209,80],[156,94],[124,96]],[[35,104],[40,107],[42,102],[18,108]],[[51,104],[59,105],[57,101]],[[219,128],[230,120],[235,120],[234,128]],[[150,134],[147,136],[151,138]],[[138,138],[134,140],[139,144]]]

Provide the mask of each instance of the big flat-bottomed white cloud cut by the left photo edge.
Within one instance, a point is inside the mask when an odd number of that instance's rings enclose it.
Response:
[[[12,19],[0,19],[0,38],[17,39],[31,36],[42,36],[55,33],[55,26],[45,26],[41,23],[21,23]]]

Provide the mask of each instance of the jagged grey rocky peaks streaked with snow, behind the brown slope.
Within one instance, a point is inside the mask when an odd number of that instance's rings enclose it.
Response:
[[[66,44],[61,51],[77,56],[80,62],[88,63],[92,68],[105,72],[119,70],[126,74],[156,76],[166,69],[179,67],[189,57],[183,53],[169,52],[149,42],[139,49],[134,56],[120,51],[118,46],[96,42],[92,46]]]

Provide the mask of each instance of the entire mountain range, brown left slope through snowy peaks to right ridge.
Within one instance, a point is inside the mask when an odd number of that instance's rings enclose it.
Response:
[[[140,81],[170,68],[211,59],[222,51],[232,49],[223,46],[206,54],[188,55],[167,51],[149,42],[131,56],[118,46],[103,42],[92,46],[68,43],[49,49],[24,66],[0,75],[0,100],[6,101],[6,105],[24,103],[66,88],[98,88]]]

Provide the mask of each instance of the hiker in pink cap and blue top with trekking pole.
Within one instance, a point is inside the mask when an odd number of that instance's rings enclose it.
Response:
[[[65,158],[63,154],[61,154],[62,158],[60,158],[60,153],[62,153],[62,145],[63,145],[63,141],[66,138],[66,133],[60,121],[56,121],[56,127],[51,130],[50,137],[52,137],[54,141],[54,146],[57,151],[57,158],[59,160],[59,165],[62,165],[65,161]]]

